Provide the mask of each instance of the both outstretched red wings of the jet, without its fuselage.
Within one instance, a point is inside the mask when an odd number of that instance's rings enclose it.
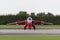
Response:
[[[27,22],[27,20],[23,20],[23,21],[19,21],[19,22],[11,22],[11,23],[8,23],[8,24],[25,24]],[[33,24],[41,24],[41,25],[51,25],[53,23],[50,23],[50,22],[45,22],[45,21],[38,21],[38,20],[33,20],[32,21]]]

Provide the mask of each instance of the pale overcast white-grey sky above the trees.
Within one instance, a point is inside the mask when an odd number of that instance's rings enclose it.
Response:
[[[19,11],[60,15],[60,0],[0,0],[0,15],[16,14]]]

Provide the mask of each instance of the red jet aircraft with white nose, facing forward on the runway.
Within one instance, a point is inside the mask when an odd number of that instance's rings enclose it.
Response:
[[[9,24],[22,24],[24,23],[24,29],[26,29],[28,27],[28,29],[31,29],[31,27],[33,27],[33,29],[35,30],[35,24],[53,24],[53,23],[49,23],[49,22],[44,22],[44,21],[38,21],[38,20],[33,20],[31,17],[28,17],[27,20],[23,20],[23,21],[19,21],[19,22],[11,22]]]

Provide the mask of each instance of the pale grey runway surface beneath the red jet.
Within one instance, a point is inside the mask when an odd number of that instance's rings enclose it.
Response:
[[[0,35],[56,35],[60,34],[60,29],[0,29]]]

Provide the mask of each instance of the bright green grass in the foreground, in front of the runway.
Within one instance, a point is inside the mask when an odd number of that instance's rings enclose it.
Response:
[[[0,40],[60,40],[60,35],[1,35]]]

